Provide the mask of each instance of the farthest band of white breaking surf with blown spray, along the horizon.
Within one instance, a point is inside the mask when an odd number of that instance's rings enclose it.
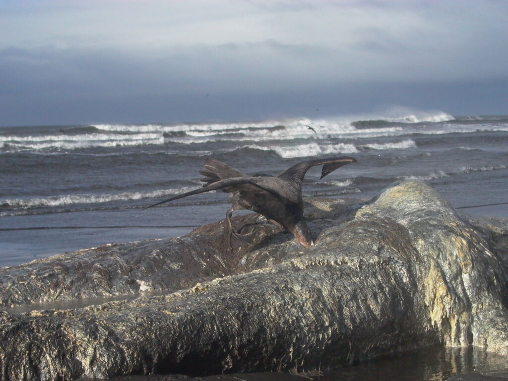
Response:
[[[356,117],[339,117],[331,119],[282,119],[262,122],[242,123],[195,123],[178,125],[113,125],[96,124],[96,128],[103,131],[136,132],[136,133],[165,133],[184,132],[185,136],[166,137],[167,142],[182,144],[207,143],[215,141],[271,141],[291,139],[361,139],[382,136],[400,136],[411,133],[419,134],[447,134],[454,132],[473,132],[478,129],[499,130],[508,129],[506,126],[493,125],[446,125],[443,129],[441,124],[417,124],[420,122],[443,122],[454,119],[446,112],[424,112],[407,108],[388,110],[387,115],[368,115]],[[379,125],[371,128],[355,128],[352,124],[355,120],[384,120],[387,122],[404,122],[407,126]],[[282,128],[274,129],[281,125]],[[309,127],[311,129],[309,129]],[[312,131],[314,130],[314,131]]]

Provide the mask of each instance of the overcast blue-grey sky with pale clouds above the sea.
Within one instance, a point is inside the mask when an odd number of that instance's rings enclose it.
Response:
[[[0,0],[0,125],[508,114],[505,0]]]

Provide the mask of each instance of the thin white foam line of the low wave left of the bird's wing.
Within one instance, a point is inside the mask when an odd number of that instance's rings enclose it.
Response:
[[[40,206],[62,206],[72,204],[98,204],[110,201],[140,200],[177,195],[197,189],[196,186],[184,186],[177,189],[158,189],[145,192],[123,192],[102,195],[61,195],[36,199],[7,199],[0,200],[0,205],[9,205],[16,208],[30,208]]]

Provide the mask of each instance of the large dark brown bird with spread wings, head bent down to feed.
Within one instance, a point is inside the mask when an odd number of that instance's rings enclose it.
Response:
[[[200,171],[205,176],[201,180],[205,182],[202,188],[174,196],[146,208],[221,189],[230,194],[232,208],[226,213],[226,218],[231,234],[240,238],[231,225],[233,211],[247,209],[264,215],[275,225],[291,232],[302,246],[308,247],[312,244],[312,236],[303,219],[302,181],[305,174],[311,167],[323,165],[321,172],[321,178],[323,178],[337,168],[356,162],[355,158],[349,156],[308,160],[294,165],[277,177],[271,177],[247,176],[227,164],[208,159]]]

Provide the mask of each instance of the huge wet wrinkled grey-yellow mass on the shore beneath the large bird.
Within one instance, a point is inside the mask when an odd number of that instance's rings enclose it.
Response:
[[[438,343],[508,355],[503,221],[458,215],[417,181],[311,202],[309,248],[245,216],[252,243],[233,250],[223,221],[3,269],[4,305],[165,293],[0,312],[3,378],[303,371]]]

